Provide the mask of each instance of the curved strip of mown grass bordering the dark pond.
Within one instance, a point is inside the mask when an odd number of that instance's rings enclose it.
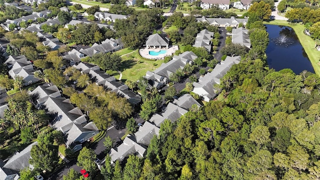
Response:
[[[298,39],[303,46],[306,54],[309,57],[309,60],[311,61],[311,64],[313,66],[314,72],[318,75],[320,75],[320,51],[314,49],[314,40],[304,34],[304,26],[303,24],[299,23],[289,23],[284,20],[273,20],[270,22],[264,22],[265,24],[274,24],[274,25],[286,25],[289,27],[292,27],[295,31],[296,35],[298,36]]]

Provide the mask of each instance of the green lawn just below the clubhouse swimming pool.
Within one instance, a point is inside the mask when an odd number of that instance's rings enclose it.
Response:
[[[145,60],[139,57],[138,50],[133,53],[122,56],[122,65],[120,67],[122,73],[122,80],[136,81],[139,77],[145,75],[147,70],[153,71],[161,65],[163,60]],[[119,75],[115,75],[118,78]]]

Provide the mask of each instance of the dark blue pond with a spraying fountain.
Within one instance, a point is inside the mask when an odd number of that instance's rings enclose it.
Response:
[[[303,70],[314,73],[311,62],[291,27],[267,24],[266,31],[269,33],[269,44],[265,53],[270,68],[290,68],[296,74]]]

